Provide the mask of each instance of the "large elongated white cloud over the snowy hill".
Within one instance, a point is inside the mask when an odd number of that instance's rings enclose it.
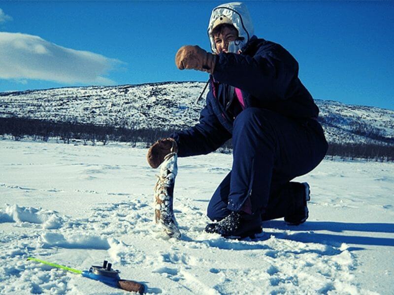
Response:
[[[0,79],[115,84],[105,78],[118,59],[65,48],[38,36],[0,32]]]

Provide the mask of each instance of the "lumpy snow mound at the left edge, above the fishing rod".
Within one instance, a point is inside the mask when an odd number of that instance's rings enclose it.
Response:
[[[0,223],[3,222],[41,224],[42,228],[50,230],[62,227],[64,219],[56,211],[6,204],[5,210],[0,210]]]

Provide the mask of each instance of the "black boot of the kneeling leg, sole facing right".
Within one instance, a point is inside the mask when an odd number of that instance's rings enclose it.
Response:
[[[306,202],[310,201],[310,186],[306,182],[297,183],[294,185],[294,212],[285,216],[285,222],[288,225],[299,225],[304,223],[309,217],[309,210]]]

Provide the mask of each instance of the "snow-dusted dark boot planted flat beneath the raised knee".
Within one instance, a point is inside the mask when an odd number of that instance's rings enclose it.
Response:
[[[205,232],[220,234],[229,238],[255,238],[255,234],[263,232],[261,227],[262,219],[260,214],[249,215],[244,212],[231,212],[223,220],[210,223],[206,226]]]

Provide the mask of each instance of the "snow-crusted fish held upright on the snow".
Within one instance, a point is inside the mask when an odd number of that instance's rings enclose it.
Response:
[[[171,152],[164,157],[164,162],[160,167],[160,175],[155,185],[155,221],[159,223],[164,232],[175,238],[181,237],[178,229],[172,203],[174,199],[175,177],[178,172],[178,156],[176,152]]]

